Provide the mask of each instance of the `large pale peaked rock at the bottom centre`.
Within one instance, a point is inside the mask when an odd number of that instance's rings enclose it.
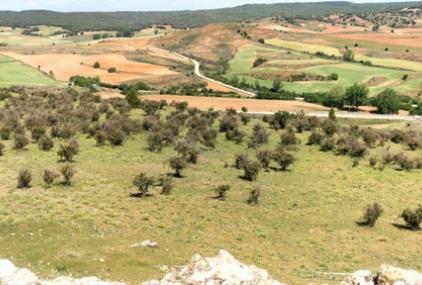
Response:
[[[168,273],[161,280],[141,285],[282,285],[271,279],[267,271],[237,261],[227,251],[221,250],[214,258],[200,255],[192,257],[189,265]]]

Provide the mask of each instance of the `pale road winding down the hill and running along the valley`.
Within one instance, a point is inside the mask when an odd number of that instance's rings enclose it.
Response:
[[[215,84],[218,84],[220,86],[226,87],[228,89],[231,89],[233,91],[236,91],[238,93],[246,95],[246,97],[253,98],[256,97],[255,93],[231,86],[229,84],[225,84],[223,82],[214,80],[212,78],[209,78],[201,73],[201,63],[189,58],[187,56],[184,56],[177,52],[172,52],[173,54],[176,54],[180,58],[190,61],[193,63],[195,67],[195,75],[199,78],[208,81],[213,82]],[[273,114],[274,112],[249,112],[251,114]],[[314,116],[314,117],[328,117],[328,112],[305,112],[306,116]],[[420,116],[403,116],[403,115],[381,115],[381,114],[370,114],[370,113],[359,113],[359,112],[336,112],[337,118],[345,118],[345,119],[361,119],[361,120],[391,120],[391,121],[422,121],[422,117]]]

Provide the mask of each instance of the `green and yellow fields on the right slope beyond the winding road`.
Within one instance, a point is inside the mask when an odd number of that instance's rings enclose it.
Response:
[[[241,47],[229,62],[229,69],[226,78],[230,79],[238,76],[248,83],[259,82],[262,86],[271,87],[273,78],[290,73],[306,73],[310,75],[329,76],[332,73],[339,75],[338,81],[298,81],[284,82],[286,90],[302,92],[325,92],[334,87],[348,87],[354,83],[368,84],[371,95],[380,93],[385,88],[393,88],[399,94],[414,96],[421,89],[421,80],[419,73],[413,71],[400,70],[390,67],[401,67],[417,71],[422,64],[418,62],[409,62],[406,60],[369,58],[357,55],[359,60],[371,60],[378,66],[365,66],[360,63],[345,63],[339,60],[328,60],[315,57],[311,54],[303,53],[308,46],[307,52],[314,53],[324,51],[321,46],[307,45],[294,42],[274,40],[282,42],[282,49],[251,45]],[[268,43],[268,41],[267,41]],[[269,41],[271,44],[272,41]],[[274,45],[274,44],[273,44]],[[288,52],[286,49],[295,49]],[[329,52],[328,50],[324,51]],[[265,58],[268,61],[262,66],[253,68],[253,63],[257,58]],[[401,80],[402,76],[408,74],[411,79]],[[266,77],[266,78],[263,78]],[[273,77],[273,78],[271,78]],[[379,80],[381,78],[381,80]],[[379,81],[377,81],[377,79]],[[375,82],[373,82],[375,81]]]

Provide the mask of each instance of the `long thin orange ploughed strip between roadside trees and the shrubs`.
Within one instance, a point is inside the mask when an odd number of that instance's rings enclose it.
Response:
[[[143,99],[166,100],[167,102],[188,102],[189,107],[198,109],[214,108],[215,110],[226,110],[233,108],[240,110],[242,107],[248,108],[251,112],[277,112],[277,111],[326,111],[327,108],[299,101],[281,100],[259,100],[242,98],[217,98],[200,96],[177,96],[177,95],[143,95]]]

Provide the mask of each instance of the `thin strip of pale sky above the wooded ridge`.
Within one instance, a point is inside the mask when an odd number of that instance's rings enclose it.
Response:
[[[307,0],[310,2],[315,0]],[[394,1],[394,0],[393,0]],[[233,7],[251,3],[299,2],[298,0],[0,0],[0,10],[46,9],[54,11],[169,11]],[[304,1],[302,1],[304,2]],[[355,0],[353,2],[391,2]]]

